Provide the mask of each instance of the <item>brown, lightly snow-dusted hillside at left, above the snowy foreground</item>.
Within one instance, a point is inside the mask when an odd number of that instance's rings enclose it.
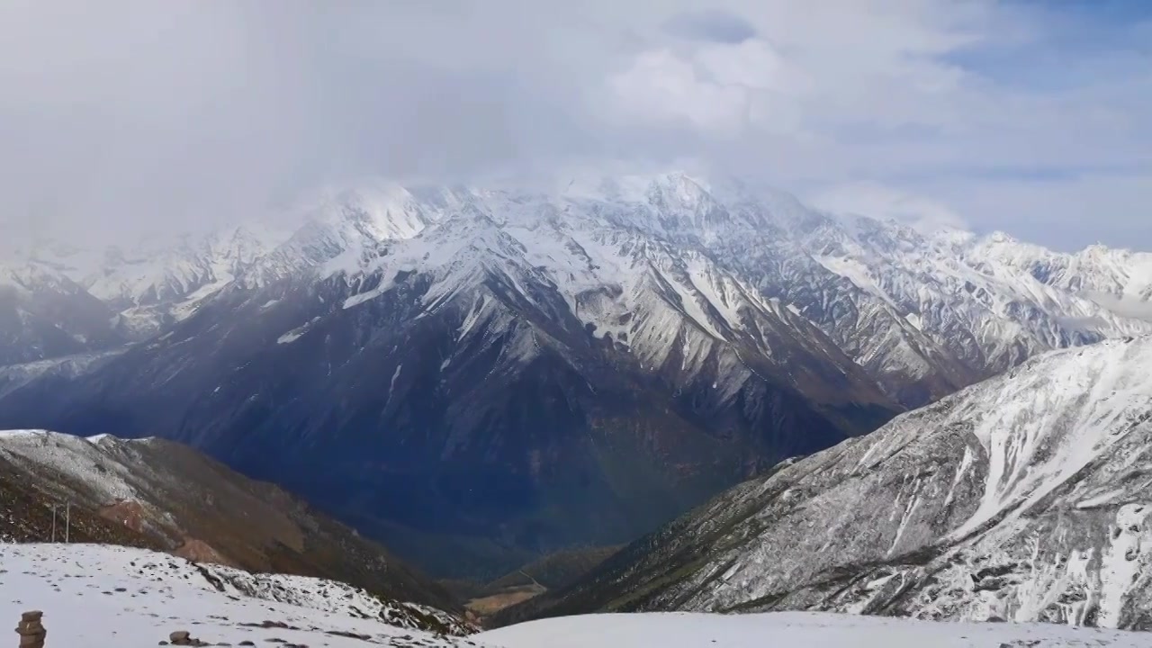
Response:
[[[71,503],[71,540],[113,542],[255,572],[344,581],[376,594],[455,609],[447,593],[380,545],[167,440],[0,432],[0,537],[46,542],[51,506]]]

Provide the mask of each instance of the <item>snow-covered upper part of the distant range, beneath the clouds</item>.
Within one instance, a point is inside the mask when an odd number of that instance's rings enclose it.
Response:
[[[554,284],[596,334],[639,336],[627,344],[659,361],[669,349],[652,338],[673,336],[619,323],[643,310],[634,302],[653,266],[653,280],[681,300],[676,316],[706,338],[740,331],[744,307],[783,308],[881,384],[943,383],[900,399],[916,405],[1038,351],[1152,330],[1152,254],[1102,246],[1062,254],[1002,233],[922,235],[683,173],[597,180],[551,194],[359,187],[298,210],[305,223],[295,232],[259,223],[132,251],[41,246],[0,266],[0,287],[86,292],[114,309],[114,329],[139,339],[230,286],[340,278],[351,287],[350,307],[397,277],[435,272],[431,302],[502,263]],[[589,294],[604,288],[622,294]]]

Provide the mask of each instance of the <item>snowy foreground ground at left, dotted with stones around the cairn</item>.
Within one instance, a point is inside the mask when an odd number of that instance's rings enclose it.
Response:
[[[206,645],[482,646],[427,608],[333,581],[255,575],[144,549],[0,544],[0,616],[44,612],[48,646],[153,647],[188,631]],[[444,619],[442,625],[437,619]],[[420,630],[440,627],[442,632]]]

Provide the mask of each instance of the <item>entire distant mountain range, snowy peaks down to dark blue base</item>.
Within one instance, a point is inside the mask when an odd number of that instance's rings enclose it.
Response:
[[[0,287],[0,351],[39,361],[0,370],[0,423],[183,440],[433,566],[461,533],[623,542],[1037,353],[1152,332],[1152,255],[924,235],[683,173],[380,183],[296,216],[16,259],[48,279]],[[32,308],[61,285],[107,339]]]

